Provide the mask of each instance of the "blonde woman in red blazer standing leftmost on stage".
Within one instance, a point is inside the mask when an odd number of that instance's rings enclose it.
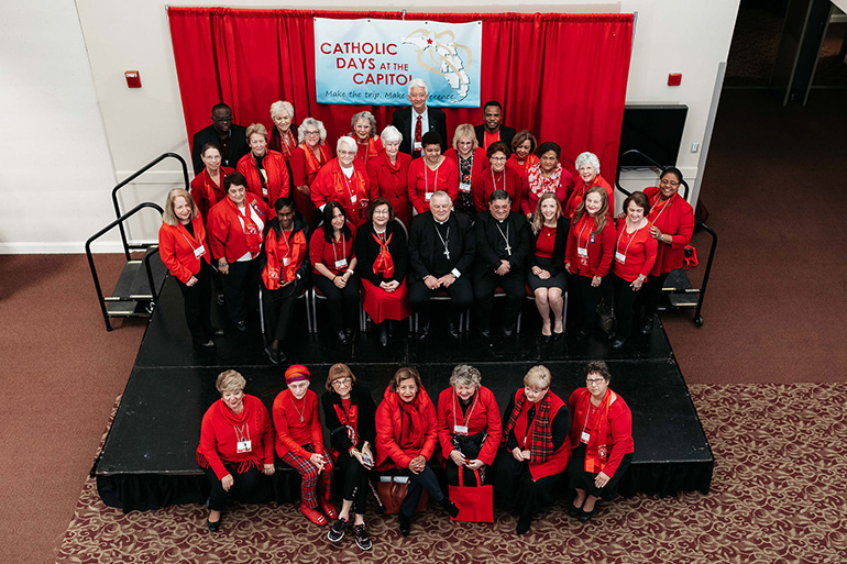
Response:
[[[179,280],[191,342],[196,346],[211,349],[215,346],[211,339],[215,328],[209,321],[212,269],[202,217],[191,195],[175,188],[167,193],[162,220],[158,254],[170,274]]]

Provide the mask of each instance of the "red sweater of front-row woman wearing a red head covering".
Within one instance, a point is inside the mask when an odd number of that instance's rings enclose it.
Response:
[[[295,399],[292,390],[286,388],[276,396],[272,411],[276,428],[277,456],[282,458],[290,452],[301,458],[308,458],[311,453],[304,449],[307,444],[311,444],[316,453],[323,451],[323,429],[318,414],[317,394],[306,390],[302,399]]]

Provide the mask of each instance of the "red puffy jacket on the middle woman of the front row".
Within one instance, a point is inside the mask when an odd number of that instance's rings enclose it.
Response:
[[[407,425],[405,435],[404,423]],[[391,387],[386,388],[383,402],[376,408],[376,469],[408,468],[418,455],[429,460],[437,444],[436,408],[427,390],[421,386],[415,399],[405,403]]]

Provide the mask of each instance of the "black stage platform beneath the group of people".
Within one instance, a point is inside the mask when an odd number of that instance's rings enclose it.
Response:
[[[612,351],[595,338],[587,343],[564,339],[543,344],[538,339],[538,313],[527,300],[522,331],[512,340],[488,343],[472,331],[457,342],[436,327],[425,343],[396,335],[383,349],[375,336],[362,334],[342,347],[328,334],[326,303],[318,303],[318,334],[306,331],[304,307],[297,313],[302,316],[304,330],[286,352],[289,363],[305,364],[311,371],[311,389],[319,396],[328,368],[337,362],[352,368],[358,380],[373,390],[377,403],[394,372],[415,365],[437,401],[449,385],[453,366],[468,363],[480,368],[483,385],[494,391],[504,409],[530,366],[548,366],[553,373],[553,391],[566,399],[585,385],[584,363],[604,360],[612,369],[610,387],[632,410],[636,450],[620,493],[708,493],[714,457],[658,319],[649,338],[638,335],[620,351]],[[257,325],[255,320],[251,331],[240,334],[224,324],[227,335],[218,339],[217,352],[194,351],[179,289],[173,278],[167,279],[91,471],[107,505],[130,511],[205,501],[208,483],[197,466],[195,450],[202,414],[220,397],[215,388],[217,375],[227,368],[241,372],[248,380],[245,391],[260,397],[268,410],[285,387],[287,365],[273,366],[266,360]],[[290,475],[297,478],[293,471],[275,476],[277,501],[289,500]]]

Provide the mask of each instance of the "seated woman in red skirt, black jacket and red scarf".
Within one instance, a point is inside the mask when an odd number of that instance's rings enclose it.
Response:
[[[406,284],[406,232],[394,221],[387,198],[376,198],[367,206],[355,250],[362,278],[362,309],[378,325],[380,344],[387,346],[392,322],[411,314]]]

